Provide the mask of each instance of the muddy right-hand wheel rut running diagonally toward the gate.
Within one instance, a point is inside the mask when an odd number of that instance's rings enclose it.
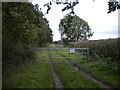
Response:
[[[62,57],[65,57],[63,54],[59,53]],[[91,73],[87,72],[86,70],[84,70],[80,65],[78,65],[75,62],[70,61],[68,58],[64,58],[65,60],[67,60],[70,65],[75,69],[80,71],[83,75],[85,75],[86,77],[90,78],[92,81],[94,81],[95,83],[97,83],[99,86],[101,86],[102,88],[105,88],[107,90],[114,90],[114,88],[112,88],[110,85],[106,84],[105,82],[103,82],[102,80],[98,79],[97,77],[95,77],[94,75],[92,75]]]

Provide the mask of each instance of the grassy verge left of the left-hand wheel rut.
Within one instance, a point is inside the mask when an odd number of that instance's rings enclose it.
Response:
[[[3,76],[3,88],[53,88],[49,65],[40,61],[37,59],[34,63],[28,63],[27,66],[17,67],[12,71],[12,75]]]

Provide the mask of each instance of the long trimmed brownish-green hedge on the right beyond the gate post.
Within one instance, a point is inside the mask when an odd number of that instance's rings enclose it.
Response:
[[[118,38],[106,40],[87,40],[70,43],[71,47],[90,48],[90,55],[93,58],[103,58],[106,61],[119,60],[119,43]]]

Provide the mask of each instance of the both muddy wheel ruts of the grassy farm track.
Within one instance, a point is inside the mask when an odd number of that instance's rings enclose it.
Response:
[[[59,51],[58,51],[59,52]],[[95,83],[97,83],[100,87],[102,88],[105,88],[105,89],[108,89],[108,90],[113,90],[111,86],[107,85],[106,83],[104,83],[103,81],[97,79],[95,76],[93,76],[91,73],[85,71],[83,68],[80,67],[80,65],[78,65],[77,63],[75,62],[72,62],[70,61],[69,59],[65,58],[65,56],[61,53],[59,53],[59,55],[61,57],[63,57],[64,60],[68,61],[68,63],[77,71],[81,72],[83,75],[85,75],[86,77],[90,78],[92,81],[94,81]],[[51,57],[51,56],[50,56]],[[53,76],[53,81],[54,81],[54,84],[55,84],[55,87],[56,88],[64,88],[64,85],[63,83],[61,82],[59,76],[57,75],[56,73],[56,70],[55,70],[55,65],[54,63],[55,62],[52,62],[52,59],[49,58],[50,62],[49,62],[49,65],[50,65],[50,69],[51,69],[51,73],[52,73],[52,76]]]

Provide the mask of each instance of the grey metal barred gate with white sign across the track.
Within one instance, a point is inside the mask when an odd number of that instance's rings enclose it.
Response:
[[[34,48],[39,59],[89,59],[89,48]]]

